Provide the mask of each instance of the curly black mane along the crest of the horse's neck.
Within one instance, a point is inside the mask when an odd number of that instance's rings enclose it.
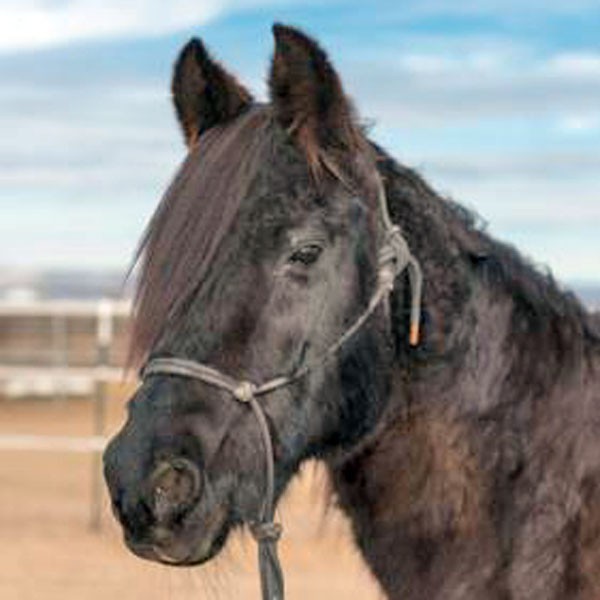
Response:
[[[557,355],[569,355],[569,348],[580,346],[582,340],[600,343],[597,317],[548,269],[540,268],[510,244],[494,239],[475,211],[441,197],[417,172],[400,165],[381,148],[375,149],[392,218],[404,224],[413,249],[429,253],[444,267],[438,281],[425,282],[425,299],[429,288],[438,304],[445,306],[444,324],[459,318],[473,282],[479,280],[498,298],[503,293],[510,297],[514,334],[523,334],[524,344],[539,344],[541,337],[544,342],[552,341]],[[457,273],[459,269],[462,276]],[[570,354],[574,357],[577,353]],[[569,362],[570,356],[564,366]],[[562,370],[560,366],[558,370]]]

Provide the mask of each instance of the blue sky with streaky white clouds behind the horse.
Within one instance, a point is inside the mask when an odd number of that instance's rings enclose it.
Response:
[[[201,36],[264,97],[276,20],[320,39],[399,160],[600,280],[600,0],[2,0],[0,267],[124,269],[185,152],[179,48]]]

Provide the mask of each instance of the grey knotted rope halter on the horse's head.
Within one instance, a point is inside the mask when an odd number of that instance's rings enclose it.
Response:
[[[325,366],[364,325],[379,304],[389,296],[394,289],[396,277],[405,269],[408,271],[412,292],[409,343],[416,346],[419,342],[423,283],[421,268],[411,254],[400,228],[394,225],[390,219],[383,185],[380,185],[379,204],[385,240],[379,250],[379,270],[375,292],[365,310],[356,318],[354,323],[316,360],[305,363],[291,375],[275,377],[261,384],[235,379],[209,365],[185,358],[153,358],[146,363],[141,373],[142,379],[150,375],[174,375],[202,381],[207,385],[229,392],[237,401],[249,404],[254,412],[265,449],[267,481],[260,518],[250,523],[249,528],[258,544],[263,600],[283,600],[284,584],[283,572],[277,555],[277,542],[281,537],[282,528],[279,523],[274,522],[275,464],[273,442],[267,418],[257,398],[287,387],[302,379],[315,368]]]

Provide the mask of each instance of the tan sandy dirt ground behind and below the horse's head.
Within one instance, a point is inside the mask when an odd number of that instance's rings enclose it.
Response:
[[[124,392],[109,404],[107,434],[124,414]],[[85,436],[92,406],[78,401],[2,401],[0,434]],[[0,449],[1,600],[258,600],[254,543],[234,538],[214,564],[176,569],[146,563],[124,548],[102,498],[90,527],[90,454]],[[324,511],[323,474],[309,465],[281,507],[280,553],[288,600],[381,598],[349,541],[347,523]]]

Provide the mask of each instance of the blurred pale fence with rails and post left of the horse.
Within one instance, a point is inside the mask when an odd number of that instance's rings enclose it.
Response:
[[[130,305],[124,301],[0,302],[0,396],[93,399],[93,435],[4,433],[0,450],[92,454],[90,525],[101,519],[108,385],[123,382]]]

